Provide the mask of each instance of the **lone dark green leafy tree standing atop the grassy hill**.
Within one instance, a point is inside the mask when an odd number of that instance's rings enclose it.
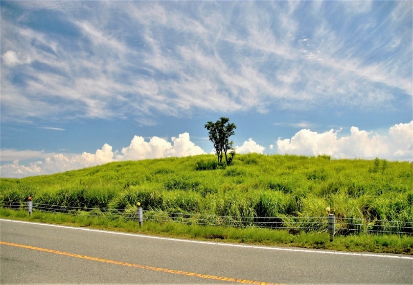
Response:
[[[205,128],[209,132],[209,140],[214,145],[218,165],[222,165],[222,158],[225,155],[225,161],[229,166],[235,155],[234,142],[229,141],[229,137],[235,134],[236,125],[229,123],[228,118],[221,117],[216,122],[207,122]]]

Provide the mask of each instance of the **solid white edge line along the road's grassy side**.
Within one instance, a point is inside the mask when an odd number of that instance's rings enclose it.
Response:
[[[89,228],[69,227],[69,226],[61,226],[61,225],[53,225],[53,224],[45,224],[45,223],[8,220],[8,219],[0,219],[0,221],[64,228],[64,229],[71,229],[71,230],[89,231],[89,232],[105,233],[105,234],[112,234],[112,235],[164,239],[164,240],[192,242],[192,243],[220,245],[220,246],[233,246],[233,247],[256,248],[256,249],[278,250],[278,251],[295,251],[295,252],[308,252],[308,253],[323,253],[323,254],[338,254],[338,255],[352,255],[352,256],[364,256],[364,257],[381,257],[381,258],[397,258],[397,259],[413,260],[413,257],[410,257],[410,256],[397,256],[397,255],[390,255],[390,254],[383,255],[383,254],[372,254],[372,253],[355,253],[355,252],[323,251],[323,250],[309,250],[309,249],[296,249],[296,248],[281,248],[281,247],[270,247],[270,246],[259,246],[259,245],[233,244],[233,243],[224,243],[224,242],[221,243],[221,242],[213,242],[213,241],[180,239],[180,238],[173,238],[173,237],[155,237],[155,236],[147,236],[147,235],[139,235],[139,234],[128,234],[128,233],[121,233],[121,232],[111,232],[111,231],[95,230],[95,229],[89,229]]]

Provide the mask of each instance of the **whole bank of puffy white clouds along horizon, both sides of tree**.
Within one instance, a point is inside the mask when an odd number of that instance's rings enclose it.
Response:
[[[297,155],[330,155],[333,159],[344,158],[374,158],[381,157],[390,160],[413,159],[413,121],[400,123],[389,129],[388,136],[380,136],[372,132],[351,128],[349,136],[338,137],[340,130],[330,130],[324,133],[312,132],[308,129],[300,130],[291,139],[278,138],[276,146],[279,154]],[[184,157],[206,154],[199,146],[190,141],[188,133],[173,137],[172,143],[159,137],[152,137],[146,142],[143,137],[135,136],[129,146],[122,148],[119,153],[113,151],[111,145],[105,143],[95,153],[83,152],[82,154],[44,154],[44,161],[37,161],[28,166],[20,165],[18,160],[13,163],[0,166],[2,177],[25,177],[41,174],[52,174],[67,170],[80,169],[90,166],[101,165],[115,161],[157,159],[166,157]],[[270,147],[272,147],[271,145]],[[245,141],[241,146],[236,146],[236,152],[264,153],[266,147],[254,142],[252,138]],[[15,152],[6,150],[7,152]],[[19,152],[17,152],[19,153]],[[24,157],[24,151],[20,152]],[[10,157],[16,153],[9,153]],[[27,153],[25,159],[33,155],[39,157],[38,153]]]

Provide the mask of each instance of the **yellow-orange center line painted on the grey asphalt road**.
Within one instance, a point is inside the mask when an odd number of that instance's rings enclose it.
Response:
[[[245,283],[245,284],[275,285],[274,283],[251,281],[251,280],[244,280],[244,279],[235,279],[235,278],[220,277],[220,276],[213,276],[213,275],[205,275],[205,274],[200,274],[200,273],[164,269],[164,268],[158,268],[158,267],[153,267],[153,266],[122,262],[122,261],[113,261],[113,260],[108,260],[108,259],[101,259],[101,258],[96,258],[96,257],[90,257],[90,256],[79,255],[79,254],[52,250],[52,249],[46,249],[46,248],[41,248],[41,247],[35,247],[35,246],[30,246],[30,245],[11,243],[11,242],[6,242],[6,241],[0,241],[0,244],[22,247],[22,248],[38,250],[38,251],[44,251],[44,252],[49,252],[49,253],[55,253],[55,254],[71,256],[71,257],[76,257],[76,258],[81,258],[81,259],[87,259],[87,260],[92,260],[92,261],[101,261],[101,262],[113,263],[113,264],[118,264],[118,265],[137,267],[141,269],[161,271],[161,272],[172,273],[172,274],[180,274],[180,275],[186,275],[186,276],[194,276],[194,277],[200,277],[200,278],[206,278],[206,279],[221,280],[221,281],[236,282],[236,283]]]

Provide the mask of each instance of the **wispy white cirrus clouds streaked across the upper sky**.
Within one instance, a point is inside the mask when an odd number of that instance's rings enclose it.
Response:
[[[333,24],[342,19],[314,12],[331,5],[11,2],[3,9],[23,13],[1,19],[2,120],[60,114],[139,121],[154,112],[231,106],[266,113],[320,102],[364,110],[412,96],[412,3],[391,3],[379,19],[368,13],[372,1],[339,2],[334,9],[348,16],[341,29]],[[27,15],[40,21],[41,13],[70,29],[31,25]]]

